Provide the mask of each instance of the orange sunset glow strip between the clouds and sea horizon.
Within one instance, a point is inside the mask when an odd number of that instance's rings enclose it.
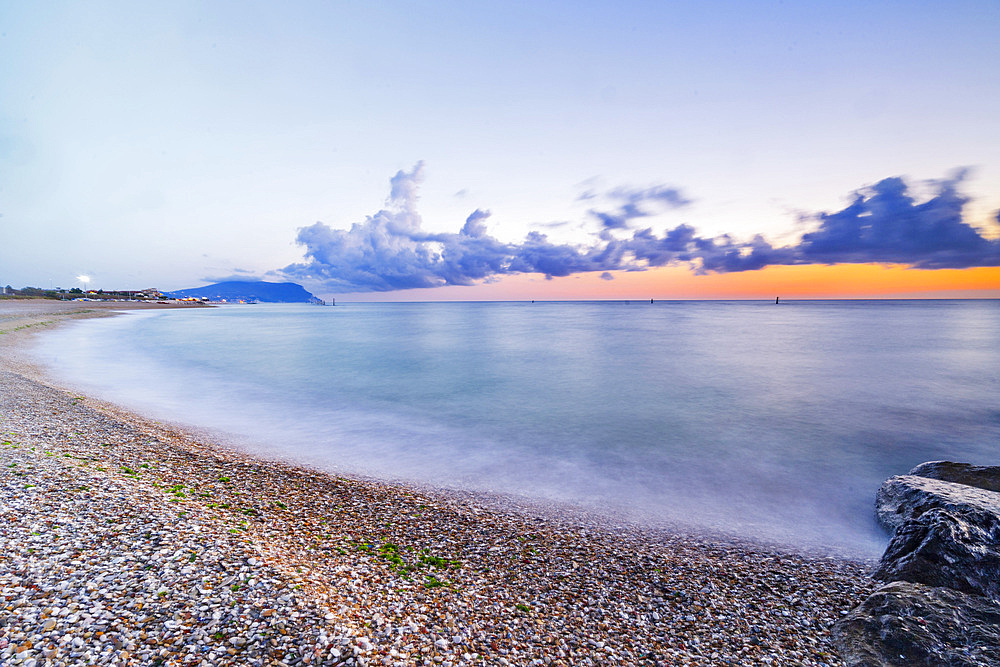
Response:
[[[471,287],[334,296],[343,301],[1000,298],[1000,267],[921,270],[906,265],[809,264],[696,275],[675,266],[613,275],[613,280],[596,272],[546,280],[522,274]]]

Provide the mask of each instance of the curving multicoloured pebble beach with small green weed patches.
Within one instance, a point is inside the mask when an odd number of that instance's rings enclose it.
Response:
[[[871,563],[254,459],[22,352],[124,307],[0,301],[3,664],[839,665],[874,589]]]

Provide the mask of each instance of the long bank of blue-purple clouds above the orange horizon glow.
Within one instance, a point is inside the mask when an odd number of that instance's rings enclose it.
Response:
[[[644,218],[682,210],[692,200],[680,189],[658,185],[604,193],[608,210],[592,208],[598,223],[589,244],[557,243],[532,231],[520,242],[488,233],[490,212],[473,211],[458,232],[423,230],[417,210],[424,164],[399,171],[390,181],[385,207],[350,229],[323,222],[302,227],[296,237],[304,261],[277,273],[331,291],[385,292],[474,285],[505,275],[540,273],[546,278],[599,271],[645,271],[687,265],[692,271],[731,273],[771,265],[905,264],[919,269],[1000,266],[1000,239],[988,238],[965,221],[968,198],[959,187],[968,171],[932,183],[920,201],[910,184],[885,178],[855,191],[842,210],[808,216],[815,223],[794,245],[773,246],[763,235],[738,240],[728,234],[700,236],[688,224],[662,234],[640,227]],[[596,198],[588,192],[581,199]],[[1000,212],[996,215],[1000,222]]]

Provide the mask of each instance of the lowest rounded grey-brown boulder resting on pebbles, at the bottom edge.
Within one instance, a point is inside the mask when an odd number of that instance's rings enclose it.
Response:
[[[848,667],[1000,665],[1000,605],[948,588],[883,586],[832,635]]]

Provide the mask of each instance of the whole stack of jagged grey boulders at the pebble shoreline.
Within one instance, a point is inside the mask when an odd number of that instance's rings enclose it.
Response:
[[[1000,467],[948,461],[882,485],[876,513],[893,535],[873,576],[892,583],[835,626],[847,665],[1000,665],[996,488]]]

